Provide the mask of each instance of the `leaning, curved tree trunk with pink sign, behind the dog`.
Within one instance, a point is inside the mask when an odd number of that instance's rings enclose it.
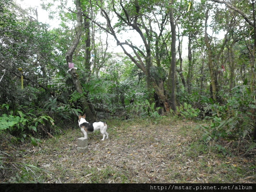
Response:
[[[81,37],[81,34],[82,34],[82,20],[83,20],[83,17],[82,17],[82,11],[81,11],[81,4],[80,4],[80,0],[76,0],[76,10],[77,10],[77,25],[76,25],[76,35],[73,39],[73,42],[72,44],[70,45],[67,53],[66,53],[66,61],[67,61],[67,64],[70,62],[73,61],[73,54],[76,50],[76,47],[80,41],[80,37]],[[75,68],[72,68],[70,71],[69,71],[69,74],[71,75],[71,78],[73,80],[73,83],[74,83],[74,86],[76,88],[76,91],[78,93],[83,93],[83,88],[82,88],[82,85],[78,79],[78,75],[76,74],[76,69]],[[94,115],[89,107],[89,104],[86,100],[85,97],[81,98],[81,104],[82,104],[82,107],[86,113],[86,117],[88,118],[89,121],[97,121],[97,117],[96,115]]]

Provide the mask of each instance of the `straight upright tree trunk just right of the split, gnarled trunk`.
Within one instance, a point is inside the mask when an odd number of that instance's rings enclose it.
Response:
[[[173,16],[173,0],[170,0],[170,25],[171,25],[171,32],[172,32],[172,43],[171,43],[171,52],[172,52],[172,60],[171,60],[171,66],[169,71],[169,81],[171,81],[171,108],[174,111],[174,113],[177,112],[176,108],[176,78],[175,78],[175,72],[176,72],[176,26],[174,23],[174,16]]]

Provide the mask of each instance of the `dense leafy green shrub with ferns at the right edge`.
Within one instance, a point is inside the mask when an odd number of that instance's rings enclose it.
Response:
[[[204,112],[210,114],[205,116],[210,123],[202,126],[204,131],[202,139],[206,143],[218,141],[221,138],[245,139],[255,128],[256,100],[255,93],[250,91],[249,86],[238,85],[232,89],[230,95],[227,93],[224,98],[228,98],[226,103],[220,104],[214,102],[212,98],[202,96]],[[254,143],[252,146],[255,147]],[[219,144],[215,144],[215,147],[226,154],[225,148]]]

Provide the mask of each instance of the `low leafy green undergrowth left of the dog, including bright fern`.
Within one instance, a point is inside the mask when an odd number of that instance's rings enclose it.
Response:
[[[30,141],[33,145],[41,142],[40,138],[59,132],[63,127],[61,118],[74,119],[82,112],[80,109],[71,108],[69,105],[59,105],[55,99],[50,98],[44,106],[26,107],[17,105],[10,108],[10,105],[0,105],[2,115],[0,116],[0,133],[9,132],[16,141]],[[55,118],[58,124],[55,124]],[[60,127],[61,126],[61,127]]]

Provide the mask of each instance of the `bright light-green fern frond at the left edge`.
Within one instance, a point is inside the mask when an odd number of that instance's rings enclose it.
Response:
[[[0,117],[0,130],[6,130],[24,121],[23,117],[3,114]]]

